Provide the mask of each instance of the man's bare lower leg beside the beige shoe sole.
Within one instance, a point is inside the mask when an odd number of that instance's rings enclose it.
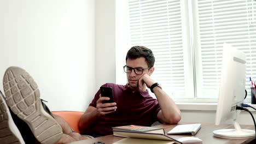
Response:
[[[61,116],[54,115],[54,114],[53,116],[55,120],[61,125],[62,131],[63,131],[61,139],[59,140],[58,143],[69,143],[72,141],[90,139],[90,137],[88,136],[83,136],[73,131],[69,126],[69,124]]]

